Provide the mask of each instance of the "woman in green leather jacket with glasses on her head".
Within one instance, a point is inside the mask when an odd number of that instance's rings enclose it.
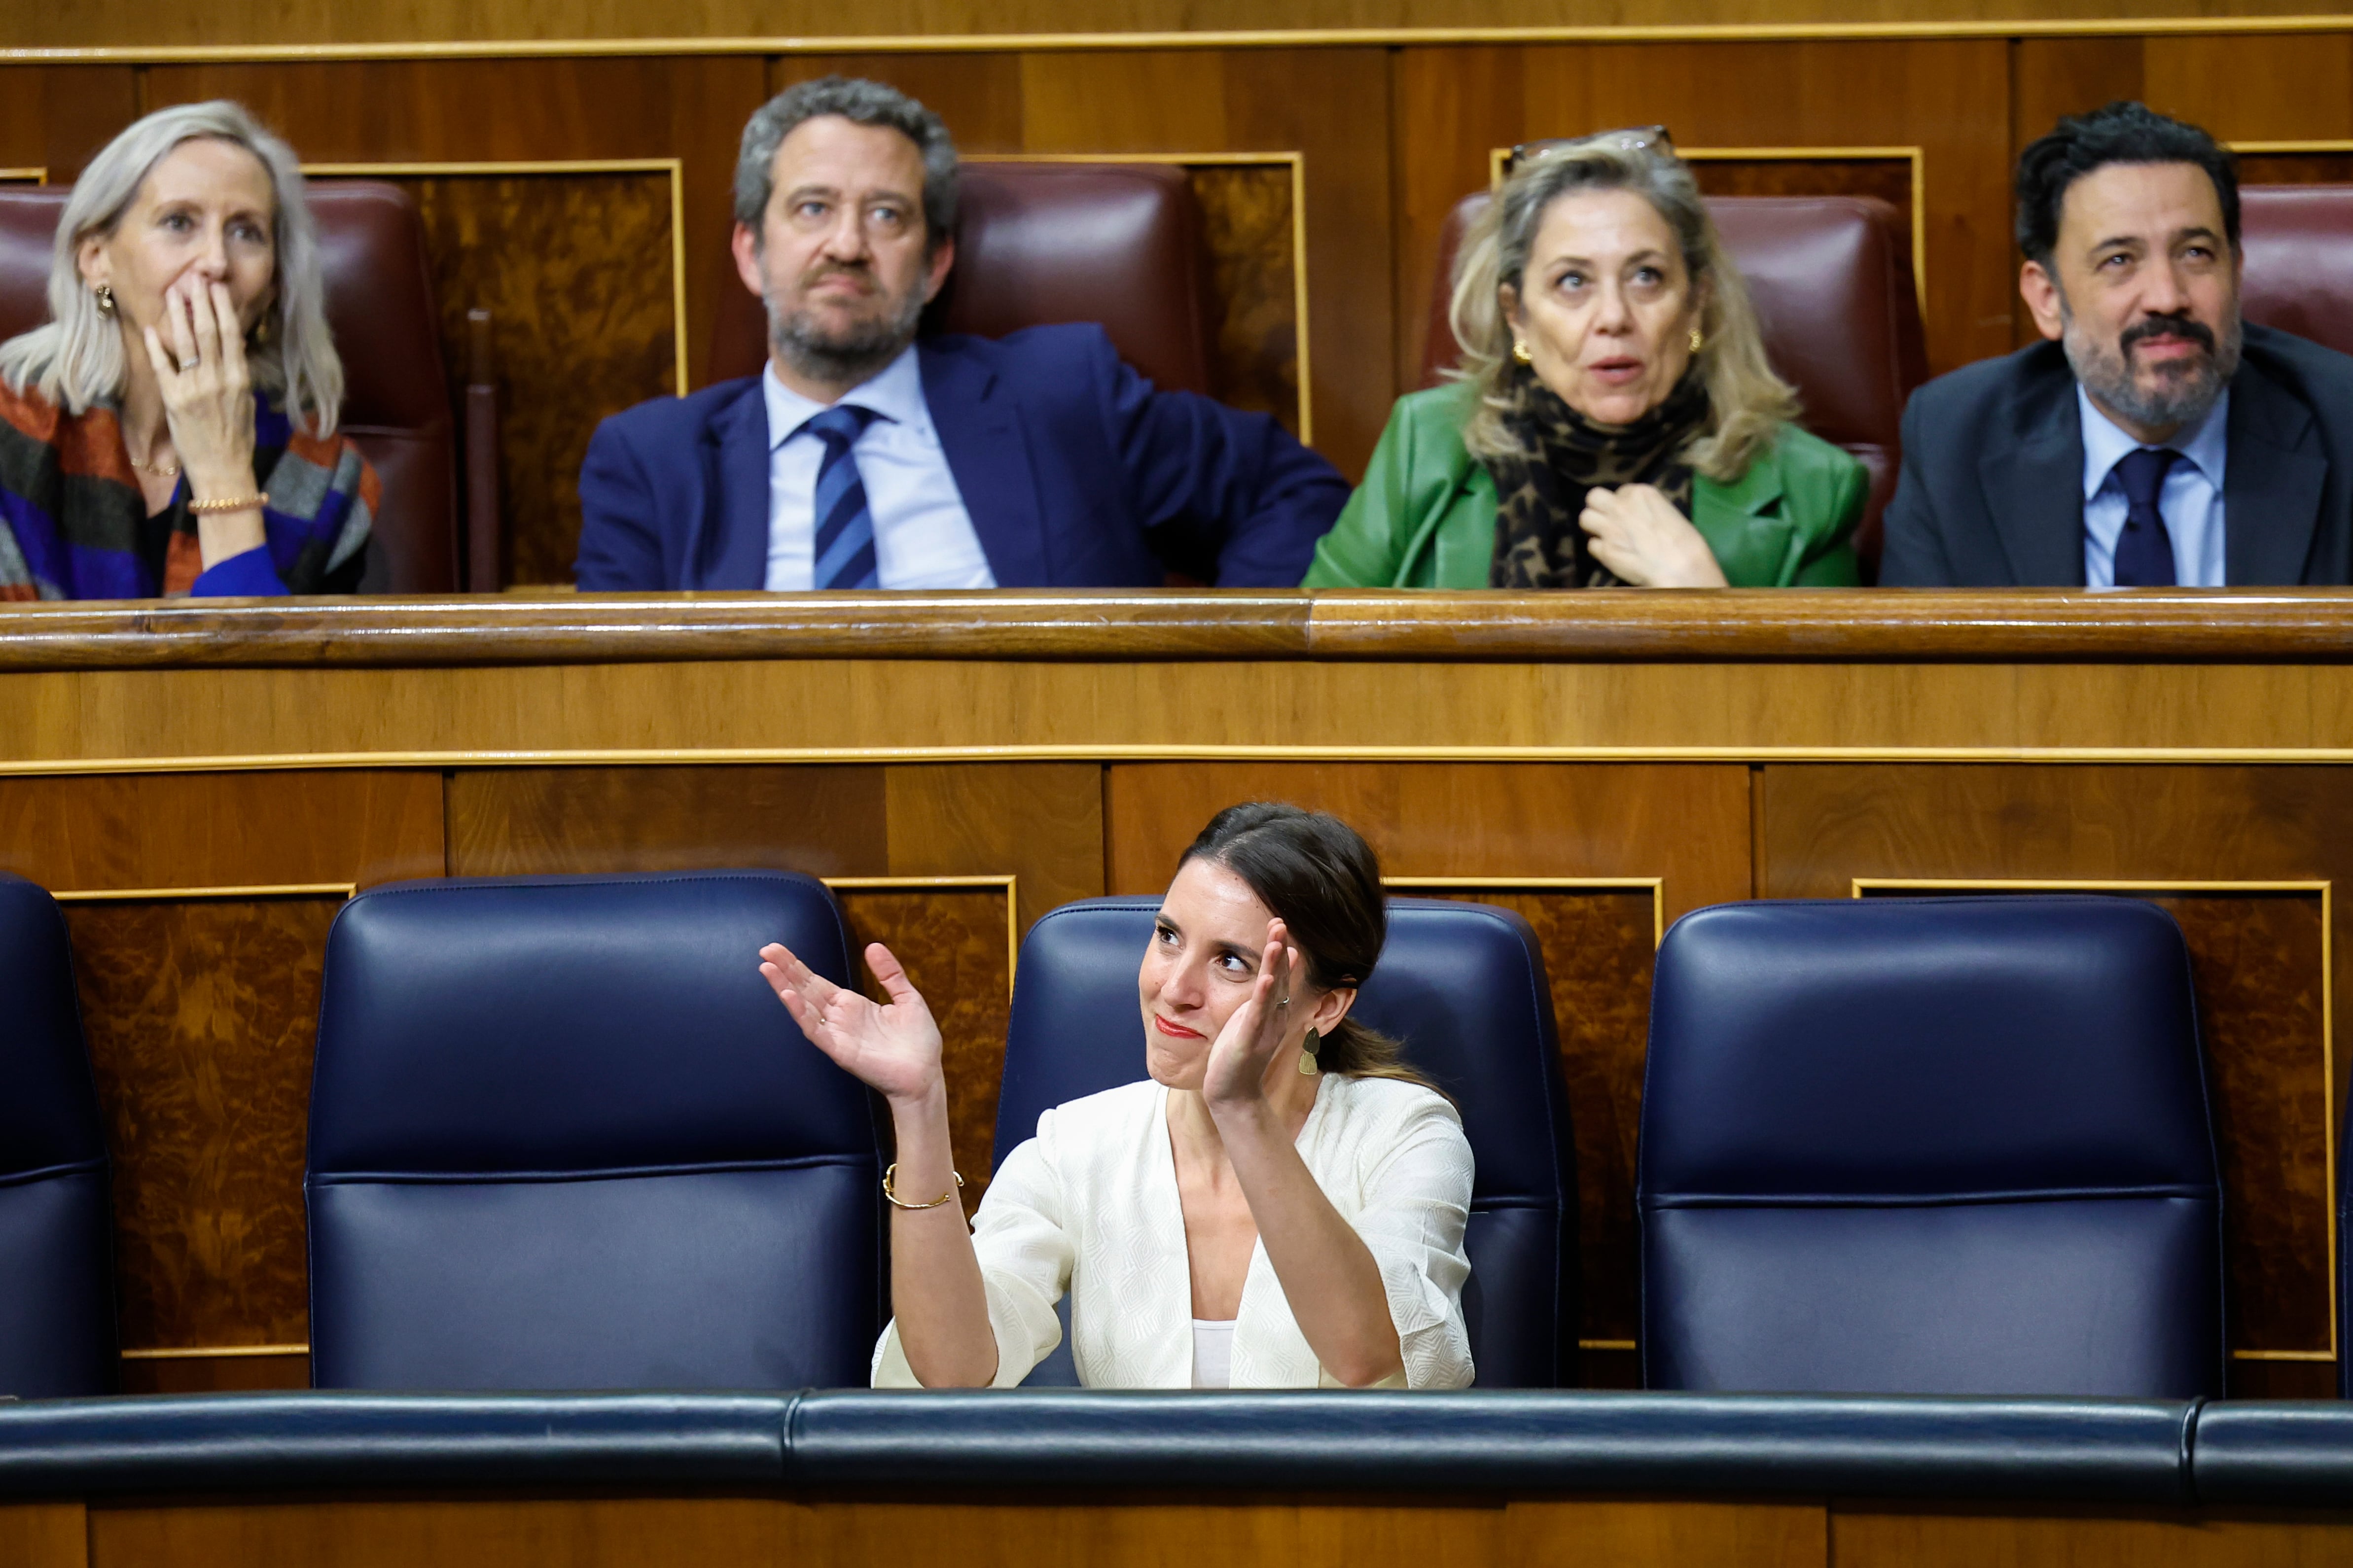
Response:
[[[1308,588],[1859,581],[1864,468],[1793,423],[1664,127],[1520,158],[1452,324],[1457,381],[1398,400]]]

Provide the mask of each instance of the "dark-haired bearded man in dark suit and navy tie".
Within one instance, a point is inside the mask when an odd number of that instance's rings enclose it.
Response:
[[[1880,583],[2344,583],[2353,357],[2240,324],[2231,153],[2111,103],[2017,188],[2047,341],[1913,393]]]

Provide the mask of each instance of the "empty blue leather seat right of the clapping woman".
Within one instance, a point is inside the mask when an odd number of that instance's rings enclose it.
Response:
[[[2221,1392],[2188,952],[2148,903],[1687,914],[1635,1204],[1654,1389]]]

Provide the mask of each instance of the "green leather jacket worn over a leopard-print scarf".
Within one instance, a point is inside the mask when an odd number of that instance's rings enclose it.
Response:
[[[1464,447],[1464,386],[1409,393],[1388,416],[1301,588],[1485,588],[1494,480]],[[1732,484],[1692,480],[1692,524],[1734,588],[1852,588],[1847,538],[1871,480],[1831,442],[1784,425]]]

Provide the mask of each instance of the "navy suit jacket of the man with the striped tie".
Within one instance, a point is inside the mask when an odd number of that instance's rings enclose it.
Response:
[[[1348,482],[1264,414],[1160,393],[1101,327],[915,346],[948,473],[1000,588],[1294,588]],[[760,378],[598,425],[581,463],[581,590],[760,588]]]

